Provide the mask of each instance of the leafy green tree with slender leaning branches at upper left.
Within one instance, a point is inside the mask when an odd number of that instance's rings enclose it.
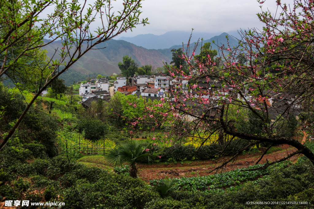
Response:
[[[148,23],[147,18],[139,19],[141,0],[126,0],[124,4],[127,6],[120,8],[118,12],[112,7],[111,0],[95,0],[88,4],[87,0],[83,2],[35,0],[23,1],[23,3],[1,1],[0,4],[1,80],[9,77],[16,81],[31,81],[31,85],[35,86],[36,90],[33,99],[8,135],[3,138],[0,150],[12,137],[36,98],[51,85],[52,81],[67,71],[87,51],[95,49],[97,44],[110,40],[139,24]],[[46,18],[40,19],[39,15],[45,11],[47,11]],[[92,31],[91,26],[94,24],[95,17],[101,17],[103,22]],[[50,40],[43,43],[45,38]],[[43,57],[40,48],[57,39],[60,48],[55,49],[53,57],[47,60]],[[38,59],[33,61],[34,57]],[[36,68],[29,67],[32,65]],[[27,73],[22,74],[22,71]],[[53,73],[55,74],[52,75]]]

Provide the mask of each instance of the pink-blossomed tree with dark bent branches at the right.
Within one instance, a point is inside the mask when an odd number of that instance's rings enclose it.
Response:
[[[261,4],[263,2],[260,1]],[[256,169],[265,169],[300,154],[314,165],[311,149],[292,137],[300,130],[296,128],[295,118],[300,107],[304,108],[304,112],[313,114],[314,46],[310,43],[314,39],[314,2],[295,1],[289,8],[278,0],[277,5],[278,16],[273,16],[268,10],[258,14],[264,24],[262,31],[243,31],[237,47],[231,49],[226,44],[219,48],[223,65],[218,69],[213,59],[216,52],[209,49],[209,44],[204,44],[202,54],[197,58],[193,57],[195,52],[192,56],[183,55],[188,61],[194,58],[196,62],[196,65],[189,64],[191,76],[186,79],[199,82],[188,86],[185,97],[176,91],[175,102],[168,101],[168,110],[175,114],[167,136],[176,142],[198,136],[203,143],[210,140],[216,144],[220,142],[220,137],[213,137],[221,133],[224,150],[229,149],[231,144],[244,142],[216,169],[234,161],[245,149],[262,143],[269,146],[288,144],[295,149],[273,162],[265,159],[265,164]],[[246,63],[238,59],[242,54],[246,55]],[[174,72],[176,68],[171,70]],[[251,121],[246,128],[237,126],[239,118],[234,116],[241,113],[242,108],[249,112],[244,114],[249,118],[243,121]],[[192,121],[187,123],[186,118]],[[313,130],[312,125],[303,128]],[[256,163],[264,158],[266,152],[267,149]]]

